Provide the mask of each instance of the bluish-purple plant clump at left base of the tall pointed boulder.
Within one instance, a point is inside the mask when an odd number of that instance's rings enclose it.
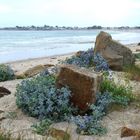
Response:
[[[95,71],[108,71],[109,66],[106,60],[99,54],[94,54],[93,48],[81,51],[79,55],[74,55],[64,61],[66,64],[73,64],[79,67],[94,67]]]

